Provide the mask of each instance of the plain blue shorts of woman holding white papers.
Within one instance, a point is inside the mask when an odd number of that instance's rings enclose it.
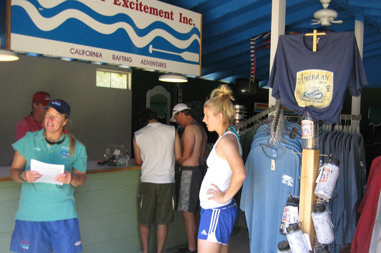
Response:
[[[16,220],[10,251],[19,253],[81,252],[78,218],[57,221]]]

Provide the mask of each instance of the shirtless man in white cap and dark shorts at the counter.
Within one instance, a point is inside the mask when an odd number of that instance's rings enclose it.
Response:
[[[200,220],[198,194],[203,177],[204,156],[207,155],[206,131],[192,117],[191,108],[185,103],[175,105],[171,122],[176,122],[184,129],[181,137],[183,157],[176,161],[181,165],[177,210],[183,211],[188,247],[179,249],[179,253],[196,253],[197,224]]]

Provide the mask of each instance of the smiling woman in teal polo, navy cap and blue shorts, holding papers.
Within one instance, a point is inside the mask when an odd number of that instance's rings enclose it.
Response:
[[[44,128],[12,144],[10,177],[22,187],[10,251],[78,253],[82,245],[73,193],[86,180],[86,149],[64,130],[67,102],[52,100],[45,108]],[[53,183],[35,182],[42,175],[30,170],[31,159],[63,164],[64,173]]]

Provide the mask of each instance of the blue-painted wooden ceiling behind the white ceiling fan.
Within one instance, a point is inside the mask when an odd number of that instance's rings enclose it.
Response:
[[[234,83],[250,78],[250,39],[271,30],[271,0],[161,0],[202,14],[201,77]],[[287,31],[313,29],[354,31],[355,19],[364,16],[363,62],[368,87],[381,87],[381,0],[332,0],[342,24],[311,25],[319,0],[287,0]],[[257,51],[255,78],[267,80],[270,49]]]

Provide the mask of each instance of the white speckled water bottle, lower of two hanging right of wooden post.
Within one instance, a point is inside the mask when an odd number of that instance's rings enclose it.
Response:
[[[335,240],[335,234],[333,232],[329,209],[325,202],[314,205],[311,215],[314,221],[318,242],[320,244],[332,243]]]

